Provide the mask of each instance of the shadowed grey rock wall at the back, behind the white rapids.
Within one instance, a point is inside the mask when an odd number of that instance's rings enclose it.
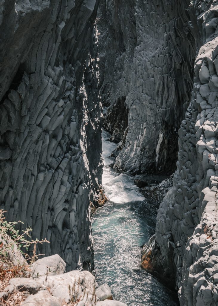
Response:
[[[101,95],[103,104],[109,105],[105,127],[115,139],[121,119],[111,123],[114,108],[125,114],[122,121],[128,121],[116,159],[120,170],[172,174],[176,169],[177,132],[191,99],[196,50],[189,4],[100,3]]]

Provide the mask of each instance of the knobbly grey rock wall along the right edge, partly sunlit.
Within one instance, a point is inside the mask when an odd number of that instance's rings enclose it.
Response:
[[[175,275],[180,305],[218,303],[218,2],[192,3],[202,46],[195,60],[191,103],[179,129],[173,188],[160,205],[152,269]],[[148,252],[148,249],[146,250]]]

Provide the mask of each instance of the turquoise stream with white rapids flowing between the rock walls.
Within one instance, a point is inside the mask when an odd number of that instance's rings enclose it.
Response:
[[[157,203],[142,196],[131,175],[109,167],[116,148],[109,137],[103,130],[103,185],[110,201],[92,217],[98,285],[107,283],[114,300],[128,306],[177,306],[176,294],[140,269],[141,246],[155,232]]]

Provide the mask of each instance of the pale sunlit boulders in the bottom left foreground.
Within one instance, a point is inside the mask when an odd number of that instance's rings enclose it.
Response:
[[[21,306],[126,306],[113,300],[107,284],[98,287],[90,272],[64,273],[65,267],[66,263],[58,255],[38,259],[28,267],[25,265],[27,277],[10,278],[1,290],[1,304],[10,305],[11,302]]]

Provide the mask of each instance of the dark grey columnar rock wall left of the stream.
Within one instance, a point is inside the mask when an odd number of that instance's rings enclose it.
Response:
[[[90,206],[101,184],[98,0],[0,1],[0,207],[93,268]]]

